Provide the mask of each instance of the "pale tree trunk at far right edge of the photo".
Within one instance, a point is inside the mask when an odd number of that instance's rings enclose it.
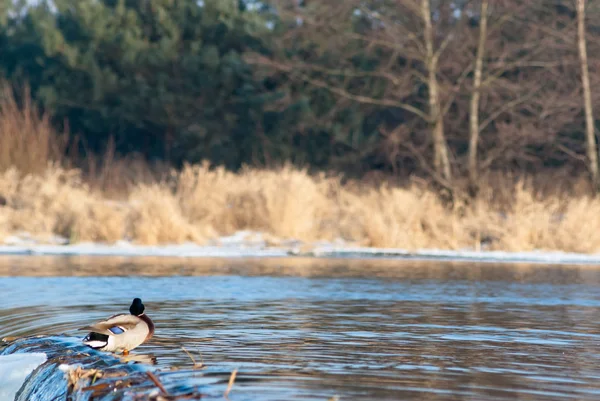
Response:
[[[579,61],[581,63],[581,84],[583,86],[583,103],[585,107],[585,132],[587,138],[587,154],[594,189],[600,191],[598,182],[598,154],[592,110],[592,94],[588,71],[588,58],[585,41],[585,0],[577,0],[577,42],[579,45]]]

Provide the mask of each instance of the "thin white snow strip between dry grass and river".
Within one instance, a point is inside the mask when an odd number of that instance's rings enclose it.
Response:
[[[194,243],[165,245],[136,245],[128,241],[115,244],[76,243],[54,238],[41,243],[31,236],[11,236],[0,245],[1,255],[54,256],[163,256],[182,258],[254,258],[254,257],[322,257],[322,258],[386,258],[408,260],[439,260],[487,263],[542,263],[600,265],[600,254],[580,254],[558,251],[503,252],[472,250],[424,249],[407,251],[397,248],[356,247],[342,240],[303,244],[299,241],[276,241],[274,245],[262,233],[240,231],[221,237],[209,245]]]

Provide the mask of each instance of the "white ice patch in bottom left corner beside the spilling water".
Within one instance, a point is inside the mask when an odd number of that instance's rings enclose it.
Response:
[[[44,362],[46,354],[39,352],[0,355],[0,401],[13,401],[27,376]]]

